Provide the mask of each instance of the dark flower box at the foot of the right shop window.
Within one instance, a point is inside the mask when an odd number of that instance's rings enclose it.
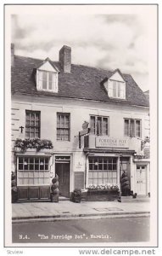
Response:
[[[120,196],[119,190],[107,190],[107,189],[88,189],[87,201],[117,201]]]

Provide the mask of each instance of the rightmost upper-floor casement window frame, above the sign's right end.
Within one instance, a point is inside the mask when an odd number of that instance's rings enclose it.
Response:
[[[129,135],[126,135],[126,120],[128,121],[128,131]],[[140,136],[137,135],[137,122],[139,122],[138,127],[140,127]],[[133,134],[131,135],[131,123],[134,123],[133,125]],[[142,119],[129,119],[124,118],[124,135],[125,137],[142,137]]]

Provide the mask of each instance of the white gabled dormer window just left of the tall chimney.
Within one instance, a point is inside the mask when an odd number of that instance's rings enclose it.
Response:
[[[47,59],[41,67],[36,69],[36,88],[37,90],[46,90],[58,92],[58,74],[59,71]]]

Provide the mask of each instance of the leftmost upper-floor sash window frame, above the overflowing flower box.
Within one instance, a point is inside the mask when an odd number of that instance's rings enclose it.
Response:
[[[26,113],[30,114],[30,118],[29,118],[30,125],[26,124],[26,121],[27,121]],[[35,119],[34,119],[35,125],[31,125],[31,113],[35,114]],[[38,114],[38,117],[39,117],[38,120],[36,120],[36,113]],[[36,126],[36,121],[38,121],[39,123],[38,126]],[[29,128],[29,131],[28,131],[29,137],[26,136],[26,132],[27,132],[26,128]],[[31,131],[30,131],[31,128],[34,128],[34,137],[31,137]],[[36,128],[38,128],[38,137],[36,137]],[[41,138],[41,111],[25,109],[25,138]]]

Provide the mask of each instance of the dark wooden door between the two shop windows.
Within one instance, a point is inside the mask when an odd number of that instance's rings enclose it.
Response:
[[[55,168],[59,176],[59,195],[70,197],[70,163],[56,163]]]

